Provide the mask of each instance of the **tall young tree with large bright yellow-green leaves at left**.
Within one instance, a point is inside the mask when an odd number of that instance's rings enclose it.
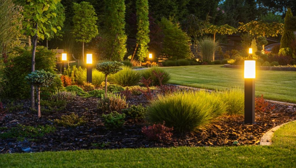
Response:
[[[61,30],[60,27],[51,27],[51,30],[46,28],[46,26],[51,25],[49,21],[50,18],[57,16],[53,12],[56,9],[56,4],[61,0],[27,0],[27,3],[24,5],[22,15],[22,27],[18,27],[21,30],[22,34],[33,37],[33,51],[32,51],[32,67],[31,71],[35,71],[35,52],[37,39],[41,38],[44,40],[44,37],[50,37],[49,32],[52,30],[54,33],[57,32],[57,29]],[[46,12],[47,11],[47,12]],[[34,86],[31,85],[31,108],[34,108]]]

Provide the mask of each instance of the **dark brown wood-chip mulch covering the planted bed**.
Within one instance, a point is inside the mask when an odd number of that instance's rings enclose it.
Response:
[[[152,91],[154,95],[159,93]],[[115,149],[115,148],[147,148],[173,146],[223,146],[223,145],[257,145],[262,135],[269,129],[288,121],[296,120],[296,106],[274,104],[272,112],[256,112],[255,124],[244,124],[243,116],[223,116],[213,124],[204,126],[195,133],[174,133],[172,140],[161,143],[146,139],[141,128],[148,123],[144,120],[127,120],[122,129],[107,130],[101,118],[102,112],[96,111],[98,98],[76,97],[67,104],[66,110],[54,113],[42,113],[38,119],[36,113],[29,110],[29,100],[23,103],[20,111],[0,114],[0,127],[15,127],[17,124],[37,126],[54,124],[54,119],[62,115],[75,113],[86,116],[87,124],[75,129],[57,127],[56,132],[35,138],[33,141],[18,142],[16,138],[0,139],[0,153],[64,151],[80,149]],[[144,95],[128,98],[130,104],[144,104],[148,101]]]

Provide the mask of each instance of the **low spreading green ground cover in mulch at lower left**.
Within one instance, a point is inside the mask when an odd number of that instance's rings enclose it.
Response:
[[[32,127],[19,124],[0,134],[0,139],[17,138],[18,141],[23,141],[25,138],[43,137],[55,130],[55,127],[49,125]]]

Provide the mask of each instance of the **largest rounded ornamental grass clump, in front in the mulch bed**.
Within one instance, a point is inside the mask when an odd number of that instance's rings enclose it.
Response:
[[[194,131],[226,113],[226,110],[226,103],[217,94],[206,91],[174,92],[153,100],[147,110],[147,119],[153,123],[165,121],[168,127],[174,127],[178,132]]]

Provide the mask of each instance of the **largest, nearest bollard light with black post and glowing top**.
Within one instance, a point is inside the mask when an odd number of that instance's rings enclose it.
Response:
[[[244,61],[244,122],[255,123],[256,61]]]

